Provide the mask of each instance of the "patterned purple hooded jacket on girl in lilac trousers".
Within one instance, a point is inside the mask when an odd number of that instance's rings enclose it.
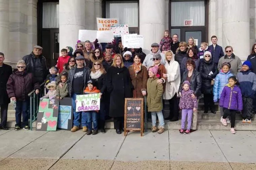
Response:
[[[193,108],[197,108],[197,98],[192,98],[191,95],[194,93],[193,90],[190,89],[190,82],[189,81],[184,81],[182,83],[182,86],[184,84],[188,84],[189,85],[189,90],[185,91],[185,90],[181,90],[181,98],[180,98],[180,104],[179,107],[181,109],[193,109]]]

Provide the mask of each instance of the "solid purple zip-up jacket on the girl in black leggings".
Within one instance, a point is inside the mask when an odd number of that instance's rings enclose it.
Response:
[[[240,88],[235,85],[233,89],[227,84],[220,96],[220,107],[231,110],[243,110],[243,99]]]

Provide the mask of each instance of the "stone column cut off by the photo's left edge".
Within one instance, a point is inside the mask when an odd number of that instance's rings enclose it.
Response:
[[[8,40],[9,40],[9,1],[0,0],[0,52],[4,53],[8,61]]]

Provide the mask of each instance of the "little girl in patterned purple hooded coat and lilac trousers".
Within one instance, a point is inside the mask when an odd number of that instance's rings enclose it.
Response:
[[[194,91],[190,89],[190,82],[187,80],[184,81],[182,84],[181,99],[179,104],[180,109],[182,110],[181,129],[179,130],[180,134],[184,133],[187,115],[188,125],[185,134],[190,133],[193,111],[195,112],[197,110],[197,98],[193,99],[191,96],[192,94],[194,94]]]

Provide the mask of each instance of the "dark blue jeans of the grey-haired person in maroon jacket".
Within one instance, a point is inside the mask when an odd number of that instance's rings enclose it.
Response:
[[[21,114],[22,114],[22,126],[25,127],[28,125],[28,108],[29,101],[16,101],[15,107],[15,126],[21,126]]]

